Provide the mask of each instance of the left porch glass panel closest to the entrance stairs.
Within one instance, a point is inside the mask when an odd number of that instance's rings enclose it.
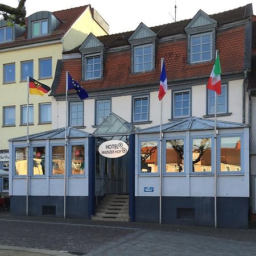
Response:
[[[72,146],[71,155],[71,172],[72,175],[84,174],[84,146]]]

